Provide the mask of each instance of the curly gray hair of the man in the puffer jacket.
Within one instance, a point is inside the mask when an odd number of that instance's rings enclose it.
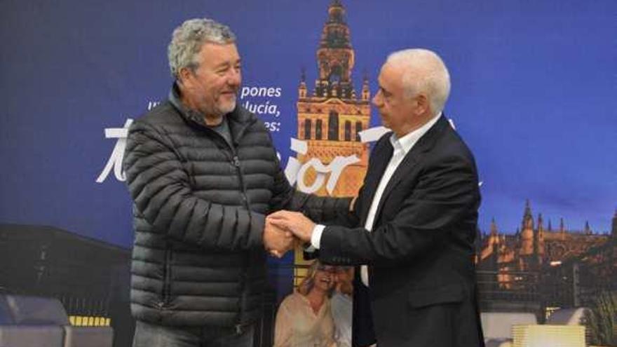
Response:
[[[204,43],[233,43],[236,35],[226,25],[208,18],[195,18],[187,20],[174,29],[171,42],[167,47],[167,57],[171,76],[178,78],[178,73],[183,67],[196,69],[196,55]]]

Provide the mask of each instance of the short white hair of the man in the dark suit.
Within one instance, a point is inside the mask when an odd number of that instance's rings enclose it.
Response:
[[[403,68],[402,85],[407,97],[426,93],[433,116],[443,111],[450,95],[450,74],[437,53],[423,48],[399,50],[386,62]]]

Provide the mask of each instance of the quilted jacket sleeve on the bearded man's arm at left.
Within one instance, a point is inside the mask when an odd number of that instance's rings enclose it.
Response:
[[[196,196],[175,149],[151,125],[131,126],[123,168],[135,208],[154,232],[217,250],[262,247],[264,215]]]

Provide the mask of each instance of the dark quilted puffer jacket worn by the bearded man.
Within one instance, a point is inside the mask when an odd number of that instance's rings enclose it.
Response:
[[[347,210],[346,198],[292,189],[254,114],[238,106],[226,117],[235,148],[169,101],[130,127],[123,165],[134,201],[137,320],[255,322],[266,280],[265,215],[285,208],[327,220]]]

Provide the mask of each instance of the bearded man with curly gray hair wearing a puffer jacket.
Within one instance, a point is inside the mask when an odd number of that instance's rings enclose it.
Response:
[[[187,20],[168,57],[168,100],[130,127],[123,162],[134,202],[133,346],[252,346],[266,251],[280,257],[293,243],[266,215],[333,219],[351,199],[287,182],[264,123],[236,104],[241,64],[229,27]]]

